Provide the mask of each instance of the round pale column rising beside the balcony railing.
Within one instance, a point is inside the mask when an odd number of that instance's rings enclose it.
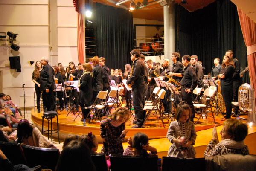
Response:
[[[168,2],[168,1],[167,1]],[[170,60],[172,52],[175,52],[175,12],[174,1],[163,6],[163,25],[164,25],[164,56]]]

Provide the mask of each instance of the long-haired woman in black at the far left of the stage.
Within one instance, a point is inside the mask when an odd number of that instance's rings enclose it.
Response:
[[[35,70],[32,74],[32,81],[35,83],[35,93],[36,93],[36,105],[38,113],[40,113],[40,98],[41,98],[41,90],[40,90],[40,72],[42,70],[42,64],[40,61],[36,61]]]

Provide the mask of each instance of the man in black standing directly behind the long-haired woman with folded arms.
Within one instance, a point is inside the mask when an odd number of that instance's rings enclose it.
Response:
[[[233,84],[233,101],[238,101],[238,89],[240,86],[240,63],[234,56],[234,52],[232,50],[228,50],[225,55],[229,55],[233,59],[233,63],[235,65],[235,72],[232,78]],[[234,107],[234,114],[238,113],[239,107]]]

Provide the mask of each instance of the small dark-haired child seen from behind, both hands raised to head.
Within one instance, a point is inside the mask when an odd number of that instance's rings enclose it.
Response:
[[[131,139],[128,139],[127,143],[129,146],[125,149],[124,156],[139,156],[148,157],[150,155],[156,155],[157,149],[148,145],[148,136],[145,133],[136,133]],[[150,151],[148,154],[147,151]]]

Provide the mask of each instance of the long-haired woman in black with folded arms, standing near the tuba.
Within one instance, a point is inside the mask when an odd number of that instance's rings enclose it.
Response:
[[[230,118],[232,111],[232,77],[234,73],[232,57],[225,55],[221,66],[222,70],[221,74],[218,75],[218,78],[221,78],[221,94],[226,106],[226,116],[224,119],[221,119],[224,121]]]

